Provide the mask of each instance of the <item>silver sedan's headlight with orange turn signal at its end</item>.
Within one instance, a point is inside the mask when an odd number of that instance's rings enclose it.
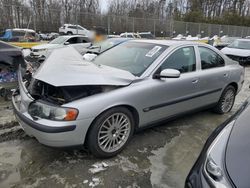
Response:
[[[66,108],[35,102],[30,104],[28,113],[33,118],[44,118],[55,121],[73,121],[77,118],[78,110],[75,108]]]

